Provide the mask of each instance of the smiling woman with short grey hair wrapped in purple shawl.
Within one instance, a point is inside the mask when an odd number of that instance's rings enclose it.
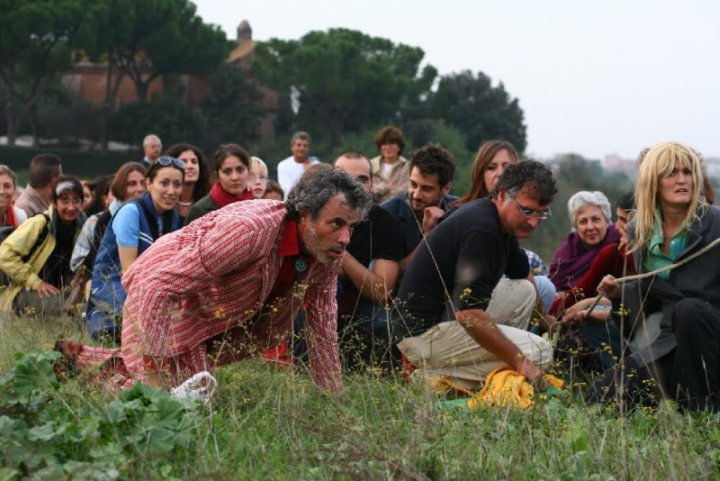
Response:
[[[610,201],[599,191],[581,190],[568,200],[573,231],[565,237],[550,264],[550,280],[558,291],[578,283],[600,250],[620,240],[610,222]]]

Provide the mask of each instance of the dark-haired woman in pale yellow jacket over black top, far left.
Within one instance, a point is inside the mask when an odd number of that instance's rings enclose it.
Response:
[[[70,254],[85,217],[80,181],[59,177],[47,212],[21,224],[0,244],[0,312],[54,316],[70,281]]]

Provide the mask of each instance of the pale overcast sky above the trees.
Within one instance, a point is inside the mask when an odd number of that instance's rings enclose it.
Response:
[[[346,27],[481,70],[517,97],[527,152],[634,158],[666,140],[720,156],[720,0],[194,0],[228,37]]]

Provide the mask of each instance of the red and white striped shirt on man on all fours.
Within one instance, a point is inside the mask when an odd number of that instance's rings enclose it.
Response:
[[[206,349],[205,341],[237,326],[254,331],[262,324],[267,337],[256,347],[273,347],[304,304],[313,380],[342,389],[335,300],[340,261],[310,264],[301,283],[282,299],[268,300],[283,261],[285,216],[281,202],[233,203],[161,237],[138,257],[123,276],[120,352],[132,379],[145,379],[148,358],[194,355]],[[265,302],[273,305],[256,320]]]

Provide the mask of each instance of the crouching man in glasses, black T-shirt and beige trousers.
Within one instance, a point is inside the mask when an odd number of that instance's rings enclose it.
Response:
[[[400,284],[393,334],[426,380],[472,389],[509,365],[543,387],[552,346],[527,331],[536,292],[518,239],[550,216],[556,192],[546,165],[510,165],[490,198],[462,206],[420,245]]]

